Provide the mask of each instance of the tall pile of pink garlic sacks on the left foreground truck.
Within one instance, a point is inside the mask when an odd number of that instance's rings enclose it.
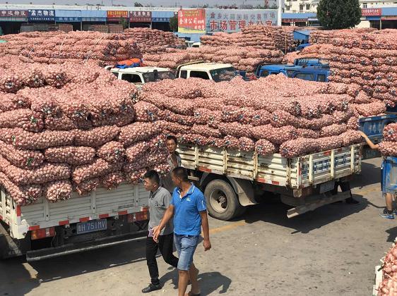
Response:
[[[94,62],[8,61],[0,58],[0,185],[17,204],[169,171],[162,130],[135,116],[133,84]]]

